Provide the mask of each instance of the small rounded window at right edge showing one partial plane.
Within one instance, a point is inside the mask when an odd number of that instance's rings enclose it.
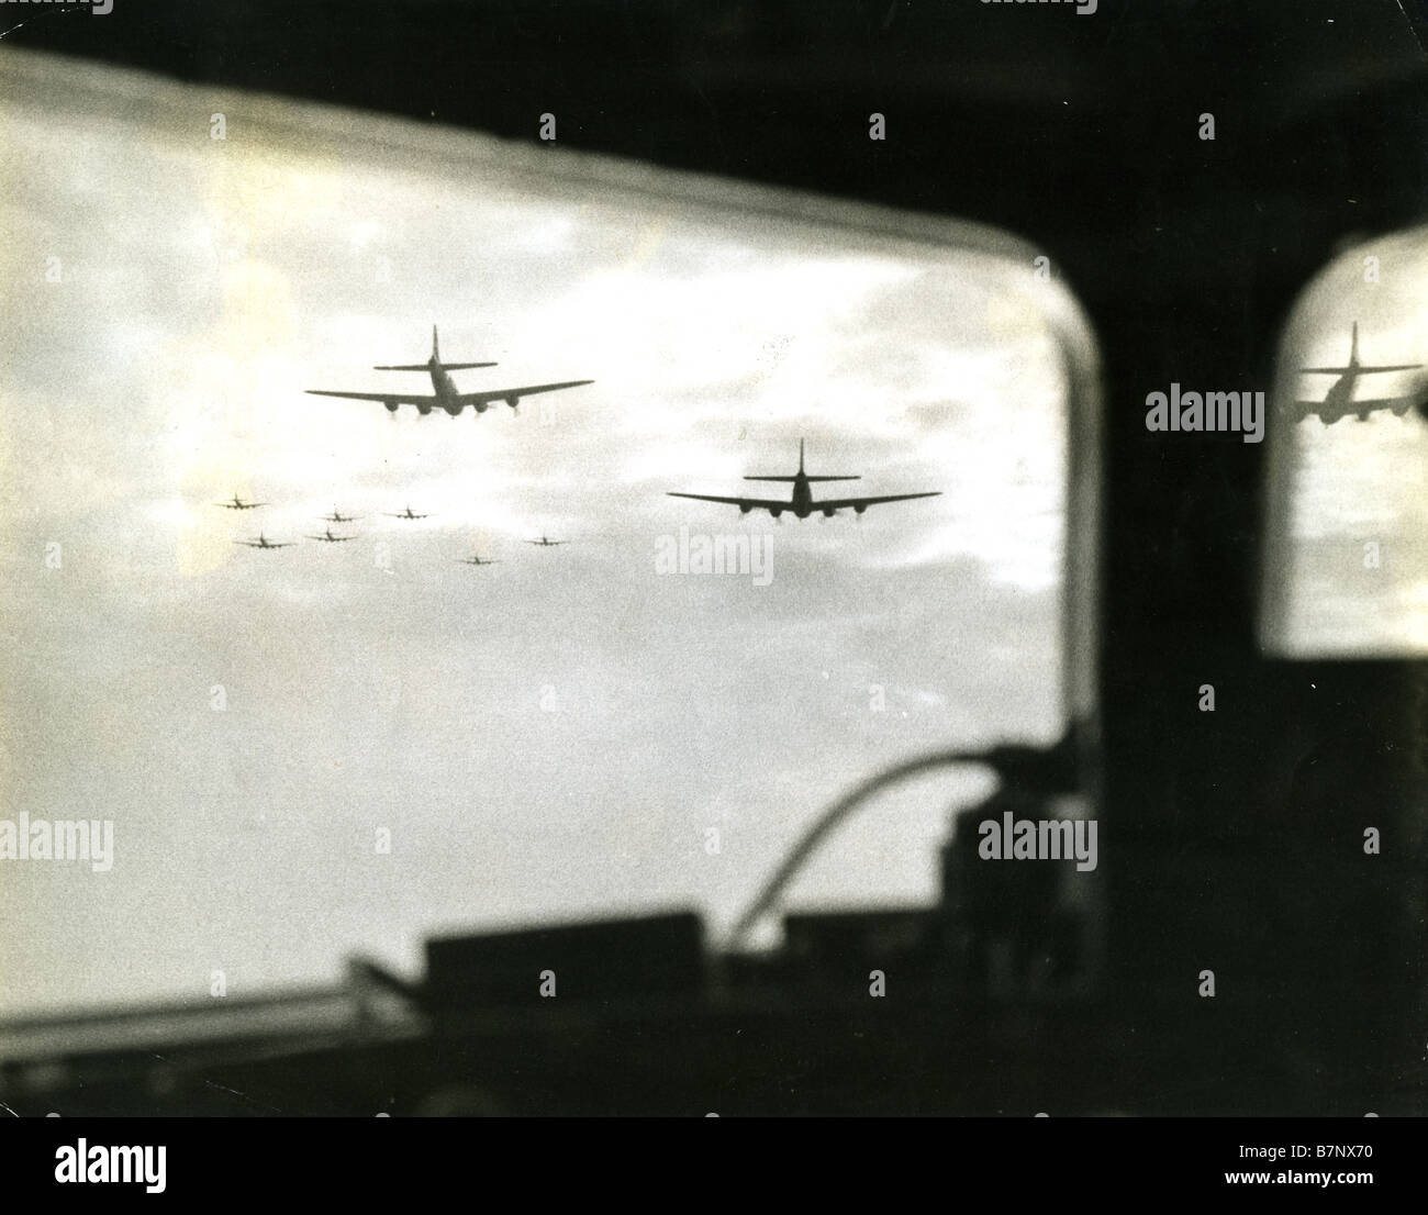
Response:
[[[1261,635],[1289,657],[1428,652],[1428,228],[1339,257],[1275,385]]]

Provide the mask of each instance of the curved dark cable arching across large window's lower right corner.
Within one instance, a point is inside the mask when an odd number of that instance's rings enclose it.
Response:
[[[830,805],[814,821],[793,850],[784,857],[783,864],[774,875],[764,884],[748,909],[740,915],[728,938],[730,952],[738,951],[740,944],[750,929],[773,908],[784,888],[804,867],[804,862],[818,850],[818,845],[828,834],[848,818],[875,792],[881,792],[888,785],[917,777],[922,772],[932,772],[938,768],[954,768],[960,764],[982,764],[992,768],[1004,784],[1017,784],[1037,792],[1062,792],[1074,788],[1072,741],[1068,734],[1050,750],[1025,747],[1021,744],[1001,744],[985,751],[935,751],[931,755],[921,755],[915,760],[905,760],[895,767],[885,768],[875,777],[870,777],[851,792]]]

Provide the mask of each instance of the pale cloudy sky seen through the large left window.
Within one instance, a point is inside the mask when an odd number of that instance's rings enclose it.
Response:
[[[413,971],[534,919],[718,932],[857,780],[1060,732],[1067,408],[1028,266],[427,127],[11,53],[0,80],[0,817],[116,837],[107,874],[0,861],[0,1011]],[[304,395],[430,391],[371,365],[433,324],[500,364],[463,388],[595,383],[456,420]],[[863,474],[828,493],[942,497],[665,497],[791,473],[800,437]],[[334,505],[358,540],[233,543]],[[770,537],[771,581],[658,573],[681,527]],[[890,795],[797,899],[930,899],[981,780]]]

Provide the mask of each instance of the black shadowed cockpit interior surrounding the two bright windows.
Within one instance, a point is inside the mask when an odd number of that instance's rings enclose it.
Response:
[[[416,984],[357,959],[340,991],[231,1021],[171,1009],[163,1061],[123,1018],[11,1024],[37,1045],[7,1064],[7,1104],[1428,1111],[1428,667],[1262,652],[1269,444],[1144,425],[1147,391],[1171,381],[1268,388],[1315,273],[1428,218],[1424,36],[1392,0],[1101,0],[1087,17],[160,0],[16,31],[20,47],[511,138],[534,140],[551,110],[568,147],[995,226],[1042,248],[1082,306],[1104,417],[1071,435],[1100,465],[1098,531],[1068,543],[1071,563],[1100,550],[1091,594],[1067,607],[1090,614],[1095,652],[1068,661],[1090,664],[1094,697],[1044,755],[967,757],[1000,785],[962,812],[935,908],[790,914],[771,954],[717,948],[693,912],[434,939]],[[868,140],[870,111],[885,141]],[[1214,141],[1197,138],[1205,113]],[[1204,684],[1214,714],[1197,711]],[[1044,867],[978,862],[978,821],[1051,818],[1067,792],[1100,824],[1094,899]],[[1381,854],[1359,847],[1365,827]],[[560,998],[541,998],[543,971]],[[250,1035],[238,1014],[290,1015]]]

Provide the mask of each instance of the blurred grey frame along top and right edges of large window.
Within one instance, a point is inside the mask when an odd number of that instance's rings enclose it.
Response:
[[[47,57],[16,51],[6,71],[41,77]],[[66,77],[66,86],[71,80]],[[176,113],[191,113],[196,86],[163,81],[147,73],[109,69],[101,79],[84,77],[76,89],[59,91],[60,107],[121,106],[129,123],[164,124]],[[1067,391],[1065,527],[1061,545],[1061,717],[1062,727],[1094,725],[1098,715],[1100,563],[1101,563],[1101,445],[1104,388],[1100,350],[1087,313],[1058,277],[1055,263],[1034,241],[1007,230],[947,216],[907,211],[805,191],[754,184],[735,178],[651,166],[604,153],[560,146],[537,147],[466,128],[421,126],[408,119],[351,111],[313,101],[277,100],[230,89],[198,89],[226,114],[240,114],[260,126],[278,146],[288,136],[306,150],[326,146],[334,160],[363,147],[384,157],[413,163],[427,176],[456,180],[480,176],[483,168],[514,176],[521,187],[554,198],[610,190],[647,198],[653,206],[678,208],[694,218],[701,211],[737,213],[768,226],[797,224],[838,230],[868,251],[890,248],[907,256],[910,246],[947,253],[980,254],[1024,266],[1038,277],[1041,318],[1061,353]],[[116,99],[114,94],[120,97]],[[99,94],[91,96],[91,94]],[[100,109],[99,111],[103,111]],[[360,123],[354,128],[354,123]],[[1038,273],[1040,271],[1040,273]],[[1050,273],[1047,273],[1050,271]],[[1042,277],[1044,276],[1044,277]],[[1008,411],[1015,401],[1008,403]]]

